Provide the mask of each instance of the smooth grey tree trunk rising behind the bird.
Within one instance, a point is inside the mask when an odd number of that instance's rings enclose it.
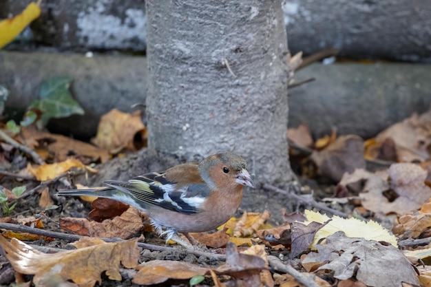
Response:
[[[146,11],[149,147],[233,151],[258,182],[288,182],[281,0],[149,0]]]

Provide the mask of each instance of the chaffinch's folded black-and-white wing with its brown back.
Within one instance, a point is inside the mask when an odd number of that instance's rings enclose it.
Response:
[[[105,184],[132,195],[144,208],[152,204],[185,214],[199,213],[210,192],[191,164],[181,164],[165,173],[146,173],[128,182],[107,180]]]

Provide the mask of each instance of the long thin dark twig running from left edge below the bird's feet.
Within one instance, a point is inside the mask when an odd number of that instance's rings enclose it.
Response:
[[[32,234],[47,236],[47,237],[59,238],[59,239],[67,240],[70,242],[80,240],[82,237],[86,237],[86,236],[81,236],[81,235],[74,235],[74,234],[67,234],[67,233],[61,233],[61,232],[55,232],[55,231],[48,231],[48,230],[39,229],[39,228],[32,228],[30,226],[10,224],[10,223],[0,223],[0,228],[8,229],[11,231],[28,232],[28,233],[32,233]],[[103,240],[105,242],[120,242],[120,241],[122,241],[119,238],[101,238],[101,240]],[[160,246],[160,245],[148,244],[148,243],[143,243],[143,242],[138,242],[138,246],[143,247],[145,249],[149,249],[151,251],[172,251],[172,250],[177,249],[174,247]],[[222,255],[222,254],[214,254],[214,253],[198,251],[198,250],[187,250],[187,253],[191,253],[191,254],[197,255],[197,256],[205,256],[205,257],[209,257],[210,259],[216,259],[216,260],[220,260],[220,261],[226,260],[226,255]]]

